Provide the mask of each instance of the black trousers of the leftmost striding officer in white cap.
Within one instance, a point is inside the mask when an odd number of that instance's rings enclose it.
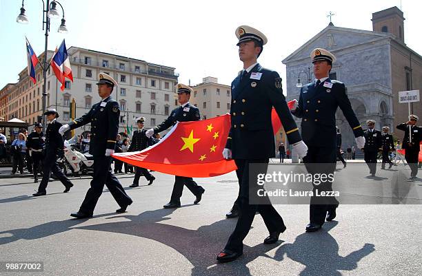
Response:
[[[48,185],[48,180],[50,179],[50,173],[53,173],[56,176],[61,184],[64,187],[72,187],[73,184],[70,182],[69,178],[63,173],[63,170],[57,164],[57,156],[55,151],[46,151],[46,158],[44,158],[43,162],[43,179],[39,183],[38,191],[45,192]]]

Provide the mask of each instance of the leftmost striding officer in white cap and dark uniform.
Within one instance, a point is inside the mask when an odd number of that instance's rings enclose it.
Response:
[[[57,164],[57,158],[62,158],[64,156],[64,143],[63,137],[59,134],[59,129],[62,126],[61,123],[57,121],[59,114],[56,109],[51,108],[47,109],[47,112],[44,113],[47,116],[47,130],[46,130],[46,154],[43,162],[43,179],[39,183],[37,193],[32,195],[46,195],[48,180],[50,179],[50,173],[53,173],[60,182],[66,187],[63,193],[70,191],[70,188],[73,186],[72,182],[63,173],[63,170]]]

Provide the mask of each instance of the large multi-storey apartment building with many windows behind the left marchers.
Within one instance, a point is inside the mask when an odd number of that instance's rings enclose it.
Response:
[[[48,59],[51,56],[52,51],[49,51]],[[92,105],[101,100],[96,85],[99,72],[106,72],[117,81],[112,97],[121,107],[119,132],[124,131],[126,120],[129,126],[136,127],[134,118],[138,116],[146,118],[145,127],[154,127],[177,106],[174,86],[178,74],[174,73],[174,67],[80,47],[70,47],[68,56],[74,81],[71,83],[66,80],[63,92],[52,70],[47,72],[46,106],[57,109],[61,116],[59,120],[63,123],[71,120],[69,107],[73,98],[77,105],[77,117],[88,112]],[[43,54],[39,60],[43,60]],[[18,83],[8,92],[5,112],[8,120],[19,118],[31,125],[37,122],[37,117],[42,113],[42,74],[41,67],[37,66],[37,83],[34,85],[26,68],[19,73]],[[7,85],[1,91],[5,89]],[[86,125],[77,129],[77,133],[89,130],[90,126]]]

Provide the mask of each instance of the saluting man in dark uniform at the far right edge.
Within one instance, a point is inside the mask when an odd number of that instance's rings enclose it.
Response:
[[[410,180],[414,180],[418,174],[419,151],[421,150],[419,143],[422,140],[422,127],[416,125],[418,119],[418,116],[412,114],[407,123],[397,126],[397,129],[405,131],[403,149],[405,149],[406,162],[411,170]]]

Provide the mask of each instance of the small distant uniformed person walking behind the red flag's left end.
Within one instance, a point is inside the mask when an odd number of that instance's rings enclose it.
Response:
[[[151,138],[148,138],[145,135],[146,129],[143,128],[143,123],[145,123],[145,117],[137,118],[138,129],[133,131],[132,142],[130,143],[128,151],[142,151],[148,147],[148,144],[151,144],[149,141]],[[148,185],[152,184],[155,180],[154,176],[151,175],[148,169],[135,167],[133,184],[129,187],[139,187],[139,178],[141,175],[145,176],[145,178],[149,181]]]

